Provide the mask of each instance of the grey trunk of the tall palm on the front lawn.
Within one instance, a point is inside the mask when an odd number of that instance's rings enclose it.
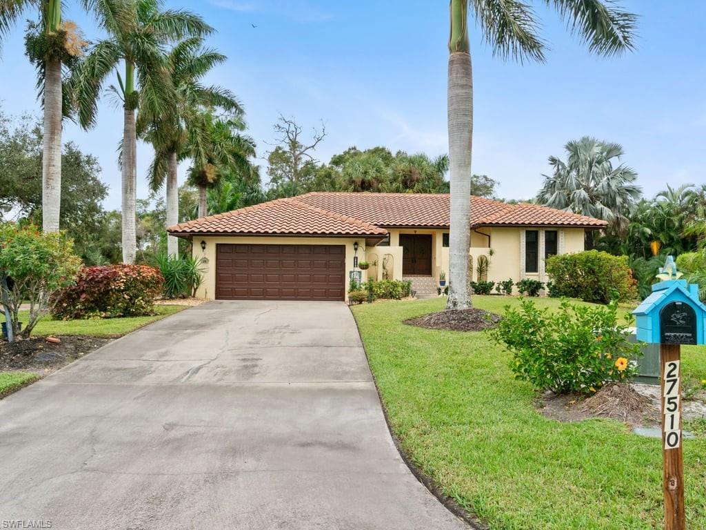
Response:
[[[448,58],[448,153],[450,184],[449,285],[447,309],[471,307],[470,247],[473,81],[467,32],[467,0],[451,0]]]

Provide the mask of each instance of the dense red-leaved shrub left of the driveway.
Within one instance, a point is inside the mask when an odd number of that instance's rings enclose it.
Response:
[[[83,267],[76,285],[56,295],[52,314],[61,319],[149,314],[163,285],[160,271],[148,265]]]

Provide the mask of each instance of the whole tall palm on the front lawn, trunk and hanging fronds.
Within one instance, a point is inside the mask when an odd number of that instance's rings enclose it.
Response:
[[[636,17],[609,0],[552,0],[568,28],[590,51],[616,55],[633,48]],[[469,0],[450,0],[448,42],[448,140],[450,160],[450,236],[448,309],[470,307],[467,286],[473,132],[473,82],[468,40]],[[532,7],[520,0],[470,0],[484,40],[503,59],[544,60]]]

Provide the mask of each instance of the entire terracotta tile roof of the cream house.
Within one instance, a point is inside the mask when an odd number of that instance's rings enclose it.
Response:
[[[506,204],[472,196],[474,226],[575,226],[599,228],[603,220],[536,204]],[[448,194],[313,192],[249,206],[172,226],[173,235],[294,234],[385,235],[381,227],[448,228]]]

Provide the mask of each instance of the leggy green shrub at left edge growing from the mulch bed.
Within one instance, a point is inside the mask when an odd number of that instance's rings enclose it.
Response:
[[[1,300],[10,314],[13,334],[20,331],[20,304],[30,302],[30,316],[21,333],[28,337],[49,311],[52,295],[73,283],[79,267],[73,240],[64,232],[44,233],[34,226],[0,224]]]

